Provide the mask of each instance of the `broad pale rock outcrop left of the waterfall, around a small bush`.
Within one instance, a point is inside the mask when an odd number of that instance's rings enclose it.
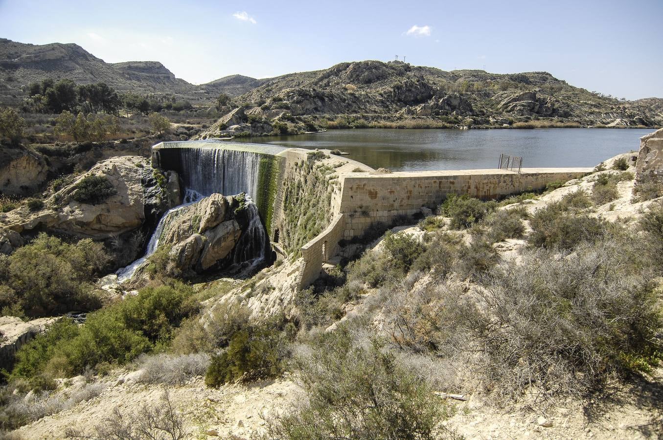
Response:
[[[89,176],[103,178],[111,195],[97,201],[77,200],[81,184]],[[113,157],[54,193],[46,200],[46,209],[15,209],[0,215],[0,222],[18,233],[46,229],[96,240],[117,237],[141,227],[146,219],[166,211],[171,203],[180,203],[178,197],[168,193],[168,184],[168,176],[152,168],[143,157]]]

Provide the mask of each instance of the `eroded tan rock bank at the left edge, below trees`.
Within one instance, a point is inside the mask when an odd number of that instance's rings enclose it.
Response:
[[[48,166],[39,154],[24,147],[0,150],[0,193],[27,195],[36,192],[48,177]]]

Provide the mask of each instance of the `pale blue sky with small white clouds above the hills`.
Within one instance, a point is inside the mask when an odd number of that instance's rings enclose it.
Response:
[[[0,37],[160,61],[206,83],[357,60],[550,72],[590,91],[663,97],[663,0],[0,0]]]

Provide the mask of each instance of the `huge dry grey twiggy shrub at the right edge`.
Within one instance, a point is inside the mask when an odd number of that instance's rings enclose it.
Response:
[[[511,398],[532,385],[575,394],[613,374],[650,371],[662,357],[654,334],[663,323],[646,261],[630,242],[584,244],[564,258],[536,250],[493,270],[482,290],[485,321],[477,317],[472,330],[489,383]]]

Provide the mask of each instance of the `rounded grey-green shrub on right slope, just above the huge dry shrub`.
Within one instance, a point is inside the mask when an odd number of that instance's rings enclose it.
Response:
[[[528,237],[531,245],[570,249],[582,241],[595,241],[605,233],[607,224],[602,219],[564,211],[562,207],[554,203],[534,213]]]

